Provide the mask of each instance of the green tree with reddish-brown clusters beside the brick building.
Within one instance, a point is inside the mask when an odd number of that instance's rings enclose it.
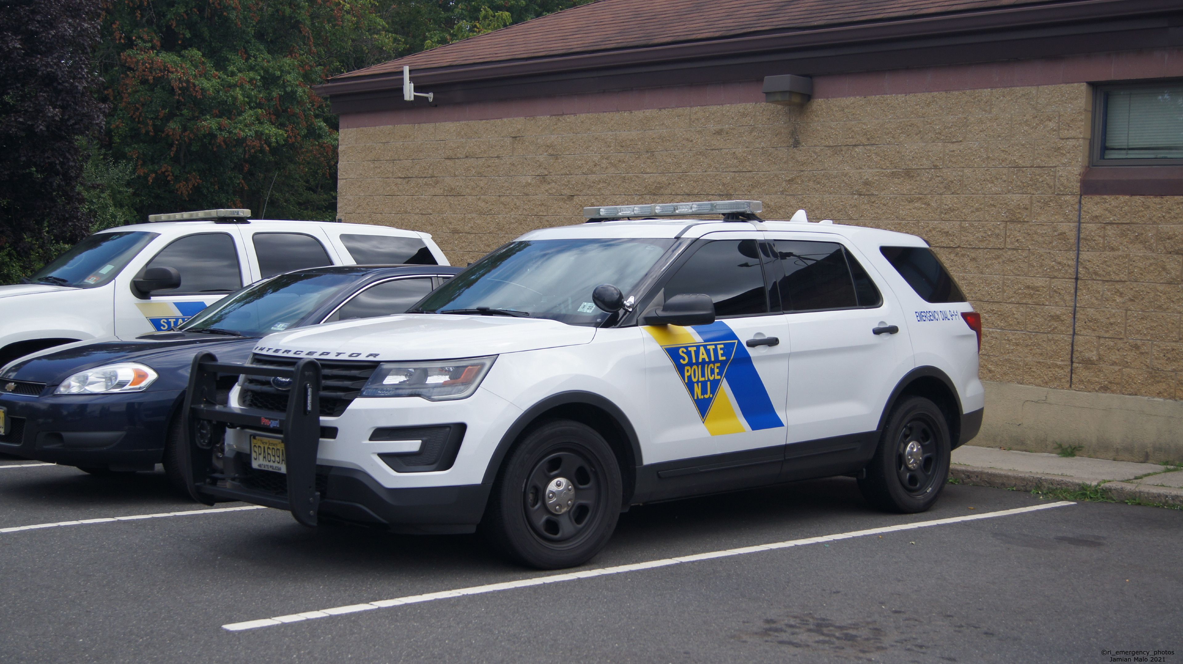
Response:
[[[250,207],[331,218],[336,117],[312,85],[401,46],[373,0],[106,0],[114,163],[137,215]]]

